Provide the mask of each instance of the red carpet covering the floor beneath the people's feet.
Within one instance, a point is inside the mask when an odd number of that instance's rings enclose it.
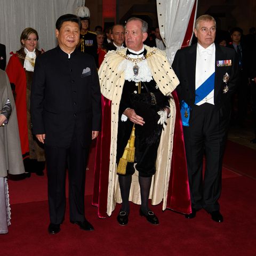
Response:
[[[92,170],[89,164],[87,188],[92,182]],[[32,174],[26,180],[9,181],[12,225],[9,234],[0,235],[1,255],[255,255],[255,186],[254,179],[223,168],[223,223],[213,222],[203,210],[195,219],[188,220],[182,214],[162,212],[162,205],[158,205],[152,209],[160,225],[153,226],[139,216],[139,206],[131,204],[129,225],[125,227],[116,221],[119,206],[110,218],[99,219],[97,208],[91,206],[90,191],[86,190],[86,217],[95,231],[83,231],[72,225],[67,207],[61,232],[49,235],[46,177]]]

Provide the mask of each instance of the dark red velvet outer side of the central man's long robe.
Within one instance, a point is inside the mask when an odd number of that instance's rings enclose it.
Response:
[[[177,93],[172,92],[176,109],[180,109]],[[98,217],[107,217],[108,173],[110,154],[111,101],[102,96],[101,132],[97,139],[92,204],[98,206]],[[186,191],[186,193],[184,193]],[[187,163],[180,111],[176,111],[171,175],[167,195],[167,208],[191,213]]]

